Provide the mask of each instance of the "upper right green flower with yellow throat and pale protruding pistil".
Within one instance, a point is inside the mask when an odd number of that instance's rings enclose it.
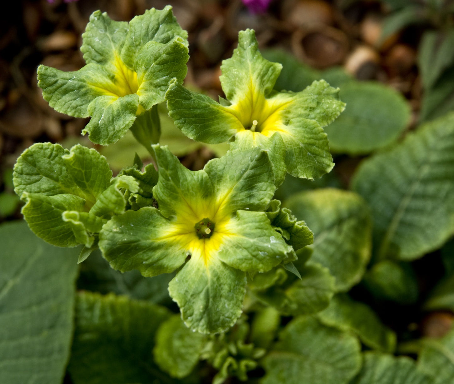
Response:
[[[232,149],[269,151],[276,183],[286,172],[313,179],[334,166],[323,126],[344,110],[339,89],[314,81],[302,92],[276,92],[282,65],[264,59],[255,32],[241,31],[232,58],[222,62],[226,98],[220,103],[173,81],[166,92],[170,117],[193,140],[221,143],[234,136]]]

